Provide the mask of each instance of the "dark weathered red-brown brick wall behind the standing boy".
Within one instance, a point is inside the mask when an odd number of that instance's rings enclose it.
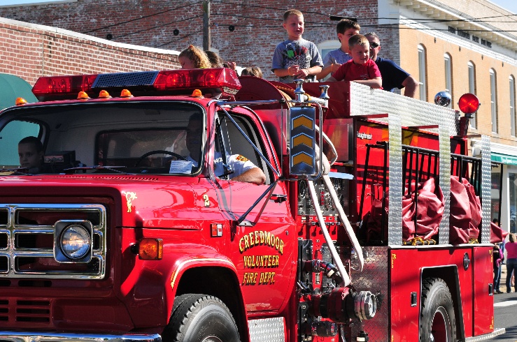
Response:
[[[87,32],[98,38],[111,34],[114,42],[180,51],[189,44],[203,46],[201,5],[195,0],[77,0],[4,7],[0,17]],[[285,10],[297,8],[304,13],[304,38],[318,44],[337,39],[337,22],[330,21],[329,15],[357,17],[363,32],[376,29],[365,25],[377,23],[377,6],[377,0],[213,0],[211,46],[223,59],[239,66],[260,66],[267,78],[274,79],[271,57],[275,46],[287,38],[282,28]],[[229,25],[235,30],[230,32]],[[173,35],[174,29],[178,36]],[[383,29],[379,35],[386,41],[398,40],[397,30]],[[383,55],[397,61],[398,49],[386,47]]]

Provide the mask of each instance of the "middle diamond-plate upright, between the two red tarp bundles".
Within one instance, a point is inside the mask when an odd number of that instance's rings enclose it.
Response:
[[[444,217],[441,218],[439,226],[438,243],[448,244],[449,237],[449,215],[451,214],[451,136],[448,129],[439,126],[439,181],[441,192],[444,193]]]

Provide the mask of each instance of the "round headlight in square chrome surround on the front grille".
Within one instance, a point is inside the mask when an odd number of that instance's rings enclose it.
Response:
[[[71,260],[80,260],[90,253],[90,232],[83,225],[69,225],[59,237],[59,248]]]

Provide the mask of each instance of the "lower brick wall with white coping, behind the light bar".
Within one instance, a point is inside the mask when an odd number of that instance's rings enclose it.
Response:
[[[44,75],[178,68],[178,52],[113,43],[64,29],[0,18],[0,73],[34,84]]]

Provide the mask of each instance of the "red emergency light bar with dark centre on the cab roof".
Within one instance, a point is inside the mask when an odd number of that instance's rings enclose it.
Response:
[[[180,69],[40,77],[32,92],[39,101],[50,101],[77,98],[80,91],[97,98],[101,90],[116,94],[122,89],[129,89],[136,96],[190,95],[194,89],[203,94],[228,96],[241,89],[241,82],[235,71],[228,68]]]

